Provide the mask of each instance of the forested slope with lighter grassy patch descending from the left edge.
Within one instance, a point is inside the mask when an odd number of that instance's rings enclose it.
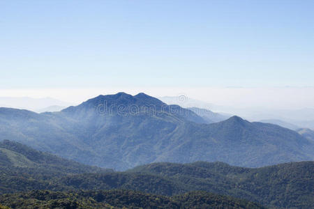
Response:
[[[0,193],[57,188],[58,184],[50,180],[78,173],[104,172],[112,170],[65,160],[17,142],[0,141]]]

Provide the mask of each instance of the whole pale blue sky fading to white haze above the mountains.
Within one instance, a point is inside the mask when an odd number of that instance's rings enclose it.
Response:
[[[183,92],[314,107],[313,10],[306,0],[0,1],[0,96]]]

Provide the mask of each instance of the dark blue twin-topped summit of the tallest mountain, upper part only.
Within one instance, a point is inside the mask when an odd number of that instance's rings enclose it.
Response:
[[[145,93],[138,93],[134,96],[124,92],[114,95],[98,95],[98,97],[87,100],[76,107],[63,109],[62,112],[77,119],[86,119],[87,116],[93,116],[94,119],[95,116],[139,116],[142,114],[161,116],[172,114],[179,119],[205,123],[204,119],[193,111],[178,105],[167,105]]]

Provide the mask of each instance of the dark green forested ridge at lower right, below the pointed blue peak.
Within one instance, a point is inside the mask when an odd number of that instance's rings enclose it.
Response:
[[[280,208],[314,207],[314,162],[248,169],[222,162],[156,163],[130,170],[181,182],[189,190],[229,194]]]

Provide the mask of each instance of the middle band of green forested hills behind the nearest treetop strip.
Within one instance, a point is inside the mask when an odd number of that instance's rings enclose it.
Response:
[[[82,189],[131,189],[176,196],[202,190],[268,207],[314,207],[314,162],[292,162],[257,169],[233,167],[223,162],[163,162],[114,172],[3,141],[0,143],[0,169],[0,194],[32,189],[76,193]]]

